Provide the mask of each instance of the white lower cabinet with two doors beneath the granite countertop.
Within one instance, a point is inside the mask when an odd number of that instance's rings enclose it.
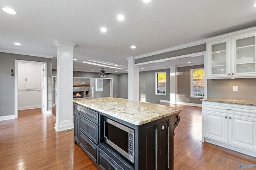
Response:
[[[256,107],[202,102],[202,142],[256,157]]]

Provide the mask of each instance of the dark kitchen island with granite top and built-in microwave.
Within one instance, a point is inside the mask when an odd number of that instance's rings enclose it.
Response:
[[[73,101],[75,144],[101,169],[173,169],[174,129],[183,109],[120,98]],[[108,130],[107,120],[133,131],[127,153],[122,144],[116,144],[119,139],[127,143],[125,138],[121,136],[115,141],[106,135],[116,133]],[[108,142],[111,140],[119,147]]]

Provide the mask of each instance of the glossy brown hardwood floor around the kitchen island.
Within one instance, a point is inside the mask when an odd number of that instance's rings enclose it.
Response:
[[[201,107],[176,107],[184,111],[175,129],[175,170],[239,170],[240,164],[256,164],[252,156],[201,143]],[[0,121],[0,170],[98,170],[86,153],[74,145],[72,131],[55,131],[52,115],[29,109],[19,111],[18,117]]]

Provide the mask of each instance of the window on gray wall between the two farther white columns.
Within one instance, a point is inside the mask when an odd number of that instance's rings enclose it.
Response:
[[[156,72],[156,94],[166,95],[166,72]]]

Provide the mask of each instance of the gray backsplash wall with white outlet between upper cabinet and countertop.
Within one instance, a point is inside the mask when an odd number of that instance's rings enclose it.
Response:
[[[238,86],[238,92],[233,92]],[[256,101],[256,78],[207,80],[207,97]]]

